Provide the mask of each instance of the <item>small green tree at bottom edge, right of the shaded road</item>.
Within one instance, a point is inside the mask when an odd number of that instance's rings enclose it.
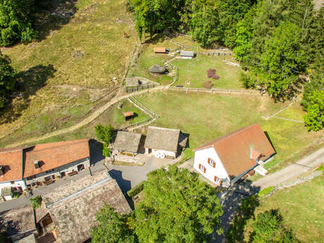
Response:
[[[279,209],[259,213],[252,224],[251,243],[293,243],[299,242],[291,229],[282,223]]]

